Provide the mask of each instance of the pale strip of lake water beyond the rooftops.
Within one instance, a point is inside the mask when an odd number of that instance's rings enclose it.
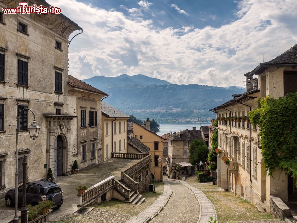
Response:
[[[200,123],[158,123],[160,125],[160,131],[157,132],[159,136],[162,136],[164,134],[169,133],[170,131],[174,132],[180,132],[185,129],[192,129],[193,127],[196,127],[196,130],[200,129]],[[211,123],[201,123],[201,125],[208,126],[211,125]]]

